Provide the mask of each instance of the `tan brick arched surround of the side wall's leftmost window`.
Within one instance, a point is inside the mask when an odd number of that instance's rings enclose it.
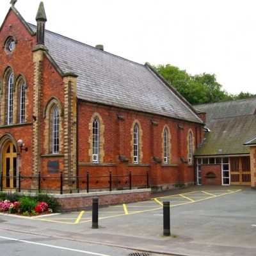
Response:
[[[90,163],[93,163],[93,121],[95,118],[98,118],[99,121],[99,163],[103,163],[104,161],[104,156],[105,156],[105,152],[104,152],[104,123],[102,120],[102,117],[100,116],[99,113],[95,112],[92,115],[92,118],[90,120],[90,124],[89,124],[89,130],[90,130],[90,136],[89,136],[89,143],[90,143],[90,148],[89,148],[89,156],[90,156]]]

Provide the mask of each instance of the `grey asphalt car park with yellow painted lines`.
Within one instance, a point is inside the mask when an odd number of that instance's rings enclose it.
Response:
[[[163,236],[163,203],[170,202],[170,236]],[[256,190],[198,186],[152,194],[151,200],[40,218],[0,215],[0,232],[106,244],[140,252],[189,256],[255,256]],[[64,244],[65,245],[65,244]]]

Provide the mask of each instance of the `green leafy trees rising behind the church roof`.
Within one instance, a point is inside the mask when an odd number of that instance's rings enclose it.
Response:
[[[157,72],[168,81],[190,104],[206,104],[225,100],[246,99],[255,97],[251,93],[239,93],[232,95],[221,90],[221,84],[217,82],[215,74],[189,75],[186,70],[167,65],[157,65]]]

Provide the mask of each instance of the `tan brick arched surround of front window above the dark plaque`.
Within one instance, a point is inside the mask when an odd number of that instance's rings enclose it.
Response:
[[[44,118],[45,118],[45,130],[44,130],[44,135],[45,135],[45,141],[44,141],[44,150],[46,154],[51,154],[51,145],[52,145],[52,111],[53,109],[58,107],[59,110],[59,115],[60,115],[60,152],[62,152],[63,148],[63,106],[60,102],[60,100],[56,97],[52,97],[50,100],[48,100],[47,104],[45,105],[44,108]]]

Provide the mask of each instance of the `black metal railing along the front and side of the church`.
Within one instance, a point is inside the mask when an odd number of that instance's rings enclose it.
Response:
[[[10,180],[15,180],[15,182],[10,183]],[[74,188],[75,180],[76,187]],[[10,186],[11,184],[13,186]],[[18,176],[4,176],[3,172],[0,175],[0,191],[7,189],[36,193],[51,191],[62,195],[64,191],[69,191],[69,193],[86,191],[89,193],[91,190],[112,191],[113,189],[131,190],[134,188],[149,188],[148,171],[146,174],[136,175],[131,171],[127,175],[113,175],[111,171],[108,175],[90,175],[89,172],[86,172],[84,176],[66,176],[63,175],[63,172],[56,176],[42,176],[40,172],[35,176],[25,176],[20,172]]]

